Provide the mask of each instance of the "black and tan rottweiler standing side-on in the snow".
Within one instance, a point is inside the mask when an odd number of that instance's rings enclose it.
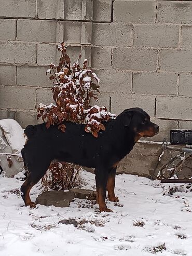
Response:
[[[104,122],[105,131],[98,138],[85,131],[84,124],[64,122],[62,132],[57,125],[48,129],[46,124],[29,125],[25,129],[28,141],[22,149],[28,178],[21,186],[25,206],[35,207],[30,199],[31,188],[44,176],[52,160],[65,161],[95,168],[97,203],[100,211],[111,211],[105,204],[106,191],[110,201],[115,196],[115,175],[118,162],[124,158],[141,137],[153,137],[159,126],[150,122],[150,116],[134,107],[119,114],[116,119]]]

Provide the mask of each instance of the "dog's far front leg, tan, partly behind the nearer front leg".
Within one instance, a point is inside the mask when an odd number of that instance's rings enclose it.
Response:
[[[108,173],[107,180],[107,191],[108,191],[108,199],[112,202],[117,202],[119,199],[115,196],[115,176],[116,176],[117,167],[112,168]]]

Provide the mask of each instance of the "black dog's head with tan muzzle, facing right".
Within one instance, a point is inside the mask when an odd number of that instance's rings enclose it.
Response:
[[[120,115],[124,126],[135,133],[135,141],[141,137],[153,137],[159,132],[159,126],[150,122],[150,116],[139,107],[124,110]]]

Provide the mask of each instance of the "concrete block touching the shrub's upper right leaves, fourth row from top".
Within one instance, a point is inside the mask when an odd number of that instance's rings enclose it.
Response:
[[[100,79],[100,91],[131,93],[132,72],[124,70],[94,70]]]

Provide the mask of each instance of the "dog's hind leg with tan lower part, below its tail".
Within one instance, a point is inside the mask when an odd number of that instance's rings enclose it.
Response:
[[[44,174],[46,173],[47,169],[49,168],[50,163],[47,161],[44,162],[43,160],[37,161],[36,164],[33,166],[29,166],[29,175],[26,178],[25,182],[21,186],[21,196],[24,200],[25,206],[30,206],[30,208],[35,208],[35,203],[31,201],[30,198],[30,190],[31,188],[43,178]]]

